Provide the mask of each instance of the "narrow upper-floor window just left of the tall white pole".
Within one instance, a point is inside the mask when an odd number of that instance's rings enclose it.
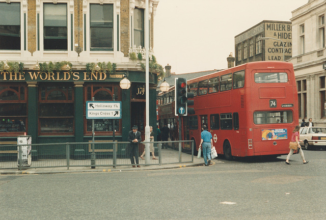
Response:
[[[144,41],[144,9],[135,8],[133,11],[133,45],[145,46]]]

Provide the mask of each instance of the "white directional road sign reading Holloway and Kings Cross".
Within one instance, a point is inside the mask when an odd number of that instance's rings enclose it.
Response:
[[[121,101],[87,101],[86,119],[121,119]]]

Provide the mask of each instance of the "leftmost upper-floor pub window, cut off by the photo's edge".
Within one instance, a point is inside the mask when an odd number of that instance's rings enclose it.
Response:
[[[0,49],[20,50],[20,3],[0,3]]]

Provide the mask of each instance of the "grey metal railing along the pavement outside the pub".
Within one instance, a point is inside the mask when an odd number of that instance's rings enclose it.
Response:
[[[152,145],[155,157],[150,153],[149,163],[139,157],[142,166],[194,162],[193,141],[142,142],[139,155],[145,145]],[[131,164],[129,142],[83,142],[31,145],[0,145],[0,169],[59,168],[59,167],[118,167]],[[29,150],[26,150],[28,148]],[[95,161],[91,153],[95,152]],[[18,153],[21,152],[21,153]],[[144,157],[145,158],[145,157]],[[93,162],[93,163],[92,163]],[[95,162],[95,164],[94,164]]]

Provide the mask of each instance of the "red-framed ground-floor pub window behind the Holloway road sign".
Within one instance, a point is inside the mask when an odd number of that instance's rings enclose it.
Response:
[[[89,84],[86,85],[85,103],[86,101],[113,101],[113,95],[115,101],[121,101],[120,87],[117,84]],[[86,109],[84,109],[86,111]],[[86,112],[85,112],[86,115]],[[86,128],[84,132],[86,134],[92,133],[92,120],[84,118]],[[94,131],[98,134],[111,134],[113,133],[113,120],[115,120],[115,133],[121,134],[121,119],[94,119]]]

